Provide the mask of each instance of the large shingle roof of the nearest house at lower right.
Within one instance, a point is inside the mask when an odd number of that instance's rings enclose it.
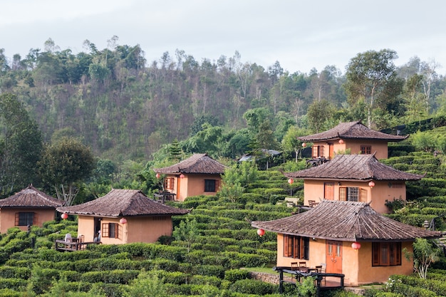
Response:
[[[322,200],[317,207],[283,219],[251,222],[251,226],[280,234],[342,241],[410,241],[437,238],[428,231],[385,217],[362,202]]]

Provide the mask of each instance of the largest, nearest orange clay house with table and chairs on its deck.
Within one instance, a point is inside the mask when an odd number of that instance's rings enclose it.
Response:
[[[251,226],[277,233],[279,270],[291,269],[296,261],[304,261],[308,268],[321,265],[325,273],[343,274],[346,286],[385,282],[392,274],[410,275],[413,261],[405,259],[403,249],[413,251],[416,238],[440,237],[438,231],[378,214],[368,203],[326,199],[308,212]]]

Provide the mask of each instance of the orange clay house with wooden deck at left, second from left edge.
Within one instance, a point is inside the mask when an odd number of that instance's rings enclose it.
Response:
[[[57,211],[77,215],[78,236],[103,244],[152,243],[162,235],[172,236],[172,216],[189,213],[156,202],[135,189],[112,189],[103,197],[58,207]]]

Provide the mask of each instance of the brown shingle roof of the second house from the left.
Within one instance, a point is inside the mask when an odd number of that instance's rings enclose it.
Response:
[[[67,214],[88,214],[104,217],[175,215],[189,212],[187,209],[178,209],[156,202],[136,189],[112,189],[105,196],[93,201],[71,207],[58,207],[56,210]]]

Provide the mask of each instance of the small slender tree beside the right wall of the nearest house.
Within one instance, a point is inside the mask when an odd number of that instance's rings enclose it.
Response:
[[[413,242],[413,253],[403,250],[405,258],[413,259],[413,269],[420,278],[427,277],[430,264],[440,259],[441,250],[434,247],[427,239],[418,238]]]

